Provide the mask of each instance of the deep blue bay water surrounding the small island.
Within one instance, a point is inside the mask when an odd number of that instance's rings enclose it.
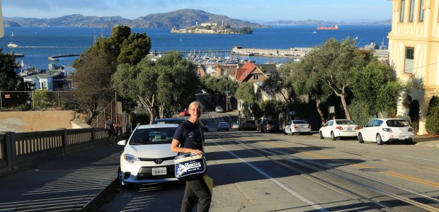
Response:
[[[329,38],[343,40],[357,38],[357,46],[363,47],[375,42],[388,45],[387,35],[391,25],[338,25],[338,30],[316,30],[317,25],[273,26],[272,28],[255,28],[253,34],[247,35],[200,35],[170,33],[170,28],[132,28],[133,33],[146,33],[152,42],[150,52],[181,52],[229,50],[235,46],[257,49],[290,49],[292,47],[314,47]],[[314,33],[316,32],[316,33]],[[13,33],[13,36],[11,34]],[[47,69],[48,64],[71,66],[78,57],[61,57],[59,61],[50,61],[47,57],[64,54],[82,54],[93,45],[95,37],[108,37],[111,28],[73,28],[73,27],[21,27],[5,28],[4,37],[0,38],[3,52],[14,51],[25,54],[17,58],[28,66]],[[19,47],[7,47],[9,42]],[[229,56],[221,53],[219,56]],[[245,57],[239,57],[244,59]],[[249,57],[247,57],[249,58]],[[289,59],[250,57],[257,63],[266,61],[285,62]]]

